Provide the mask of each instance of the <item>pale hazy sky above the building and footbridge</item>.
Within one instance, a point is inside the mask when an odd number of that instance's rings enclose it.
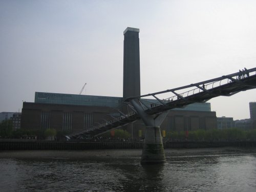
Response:
[[[141,94],[256,67],[256,1],[0,0],[0,112],[35,92],[122,97],[123,31],[139,28]],[[211,99],[249,118],[256,90]]]

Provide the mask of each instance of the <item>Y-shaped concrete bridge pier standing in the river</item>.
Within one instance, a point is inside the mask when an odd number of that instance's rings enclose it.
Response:
[[[165,155],[160,125],[168,114],[168,111],[157,115],[148,115],[134,99],[131,100],[131,103],[146,125],[141,164],[164,163]]]

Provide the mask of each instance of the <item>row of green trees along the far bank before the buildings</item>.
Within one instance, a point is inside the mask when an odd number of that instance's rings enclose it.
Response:
[[[56,138],[63,138],[69,133],[63,131],[56,131],[55,129],[46,130],[24,130],[12,129],[12,121],[4,120],[0,123],[0,137],[1,138],[23,138],[23,139],[48,139],[54,140]],[[114,135],[113,135],[114,134]],[[102,134],[101,137],[106,138],[122,138],[131,139],[131,134],[124,130],[115,130]],[[169,141],[234,141],[234,140],[256,140],[256,129],[241,130],[238,128],[232,129],[211,129],[211,130],[197,130],[197,131],[180,131],[180,132],[166,132],[164,140]]]

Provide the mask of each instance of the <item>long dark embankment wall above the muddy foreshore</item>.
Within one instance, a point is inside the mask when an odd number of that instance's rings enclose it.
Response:
[[[165,149],[256,147],[256,141],[166,141]],[[84,141],[0,141],[0,151],[17,150],[123,150],[142,149],[143,142],[84,142]]]

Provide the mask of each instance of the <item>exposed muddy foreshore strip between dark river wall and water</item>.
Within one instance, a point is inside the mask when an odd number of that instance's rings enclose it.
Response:
[[[181,148],[165,149],[166,158],[204,155],[256,154],[256,147],[221,147],[221,148]],[[141,149],[124,150],[84,150],[84,151],[0,151],[0,158],[13,159],[100,159],[100,158],[140,158]]]

